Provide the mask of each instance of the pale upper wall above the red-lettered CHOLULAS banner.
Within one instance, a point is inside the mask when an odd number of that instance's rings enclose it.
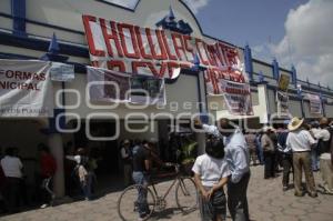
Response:
[[[193,28],[193,36],[200,36],[199,28],[191,13],[176,0],[141,0],[135,12],[123,10],[103,2],[92,0],[29,0],[27,1],[27,18],[48,24],[83,31],[82,14],[128,22],[140,27],[154,28],[155,22],[165,17],[169,6],[172,6],[176,18],[182,18]],[[27,32],[50,37],[54,30],[27,24]],[[83,36],[56,31],[60,40],[72,41],[85,46]]]

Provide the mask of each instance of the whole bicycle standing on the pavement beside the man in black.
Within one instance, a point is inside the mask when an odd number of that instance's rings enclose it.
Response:
[[[165,198],[169,195],[174,185],[178,209],[184,214],[196,210],[198,191],[193,179],[181,174],[180,164],[168,163],[167,165],[174,167],[175,178],[163,195],[158,193],[153,182],[151,183],[152,188],[143,187],[141,184],[133,184],[123,190],[118,199],[118,214],[122,221],[133,221],[138,219],[138,194],[140,191],[147,191],[147,203],[150,213],[144,218],[144,220],[148,220],[154,211],[162,211],[167,208]]]

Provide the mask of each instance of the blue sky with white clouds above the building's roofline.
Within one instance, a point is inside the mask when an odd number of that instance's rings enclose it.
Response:
[[[133,8],[138,0],[108,0]],[[204,33],[333,88],[333,0],[183,0]]]

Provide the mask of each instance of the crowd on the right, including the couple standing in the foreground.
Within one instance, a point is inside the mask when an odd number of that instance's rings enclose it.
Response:
[[[206,133],[205,154],[196,158],[194,180],[200,192],[202,221],[225,220],[226,204],[232,220],[249,221],[246,190],[251,177],[250,162],[264,164],[264,179],[275,179],[283,169],[282,189],[289,190],[293,174],[294,195],[305,192],[317,197],[313,172],[321,171],[323,193],[333,193],[333,122],[322,118],[320,122],[305,122],[293,118],[276,128],[264,127],[259,133],[246,132],[228,119],[216,125],[194,125]],[[221,152],[224,150],[224,152]],[[302,174],[305,175],[305,189]],[[224,194],[228,187],[228,198]]]

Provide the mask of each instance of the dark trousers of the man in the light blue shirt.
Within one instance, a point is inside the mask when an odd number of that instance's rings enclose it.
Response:
[[[228,182],[228,208],[233,221],[249,221],[248,184],[250,171],[238,183]]]

